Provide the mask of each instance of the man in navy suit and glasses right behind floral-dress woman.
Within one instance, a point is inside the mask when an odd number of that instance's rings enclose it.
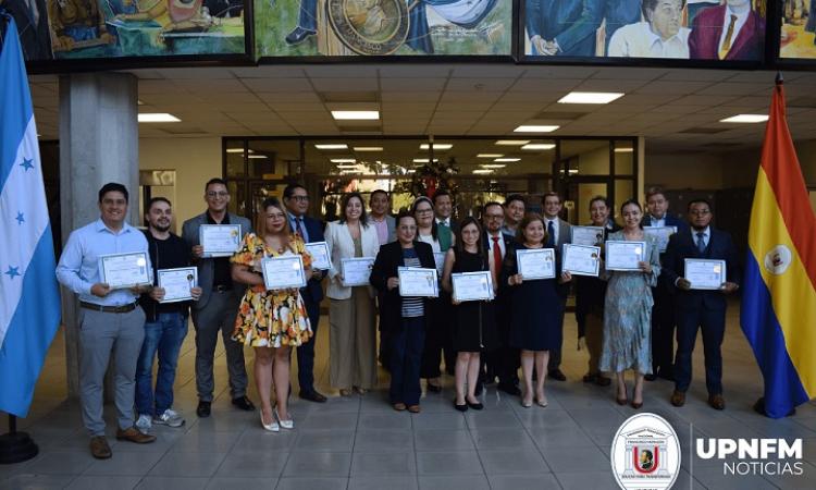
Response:
[[[323,242],[323,226],[320,221],[306,216],[309,209],[309,194],[300,184],[289,184],[283,189],[283,204],[288,213],[289,226],[306,243]],[[314,344],[318,340],[320,321],[320,302],[323,299],[323,280],[325,271],[312,269],[311,278],[300,295],[306,304],[306,313],[314,336],[310,342],[297,347],[297,379],[300,384],[300,397],[310,402],[325,403],[326,397],[314,389]]]

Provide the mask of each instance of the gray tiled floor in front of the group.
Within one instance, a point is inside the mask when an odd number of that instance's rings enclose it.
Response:
[[[762,379],[731,308],[724,346],[728,408],[705,403],[702,347],[695,354],[697,379],[684,407],[668,403],[672,384],[646,385],[641,411],[669,420],[683,449],[677,489],[808,488],[816,478],[816,406],[795,417],[770,420],[751,411]],[[318,353],[327,350],[326,319],[321,321]],[[614,402],[614,388],[581,383],[584,353],[576,352],[571,315],[565,327],[567,382],[549,382],[547,408],[523,408],[518,399],[487,390],[486,408],[455,412],[453,379],[442,394],[422,400],[422,413],[395,413],[381,390],[343,399],[329,388],[325,357],[318,360],[318,387],[332,394],[326,404],[293,399],[296,429],[261,430],[258,414],[232,408],[225,391],[223,351],[217,359],[220,396],[212,417],[198,419],[193,370],[193,335],[188,335],[176,379],[176,403],[187,418],[180,429],[157,428],[158,441],[136,445],[112,437],[113,407],[106,407],[113,457],[96,461],[87,451],[78,406],[65,401],[64,345],[58,336],[37,387],[32,414],[21,425],[40,446],[33,461],[0,466],[0,488],[71,489],[615,489],[609,446],[619,425],[635,412]],[[191,333],[191,331],[190,331]],[[251,356],[247,351],[248,357]],[[295,387],[295,390],[297,388]],[[255,390],[250,397],[257,400]],[[5,420],[2,420],[3,430]],[[804,438],[804,476],[724,477],[721,464],[694,458],[694,437]],[[692,476],[690,476],[693,475]]]

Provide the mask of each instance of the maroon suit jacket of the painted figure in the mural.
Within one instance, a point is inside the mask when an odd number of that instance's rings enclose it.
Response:
[[[727,24],[724,25],[727,8],[709,7],[701,10],[694,17],[689,35],[689,54],[692,60],[719,59],[719,38],[722,29],[728,28]],[[752,10],[737,38],[732,39],[726,60],[759,60],[764,49],[765,21]]]

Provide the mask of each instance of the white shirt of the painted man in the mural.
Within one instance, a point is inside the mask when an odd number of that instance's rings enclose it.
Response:
[[[648,22],[625,25],[609,39],[609,57],[622,58],[689,58],[689,34],[680,27],[670,38],[663,40],[652,32]]]

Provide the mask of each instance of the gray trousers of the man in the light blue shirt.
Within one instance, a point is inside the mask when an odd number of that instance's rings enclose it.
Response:
[[[145,339],[145,311],[125,314],[79,308],[79,395],[83,422],[91,437],[104,436],[102,388],[113,353],[114,400],[119,428],[133,427],[136,364]]]

